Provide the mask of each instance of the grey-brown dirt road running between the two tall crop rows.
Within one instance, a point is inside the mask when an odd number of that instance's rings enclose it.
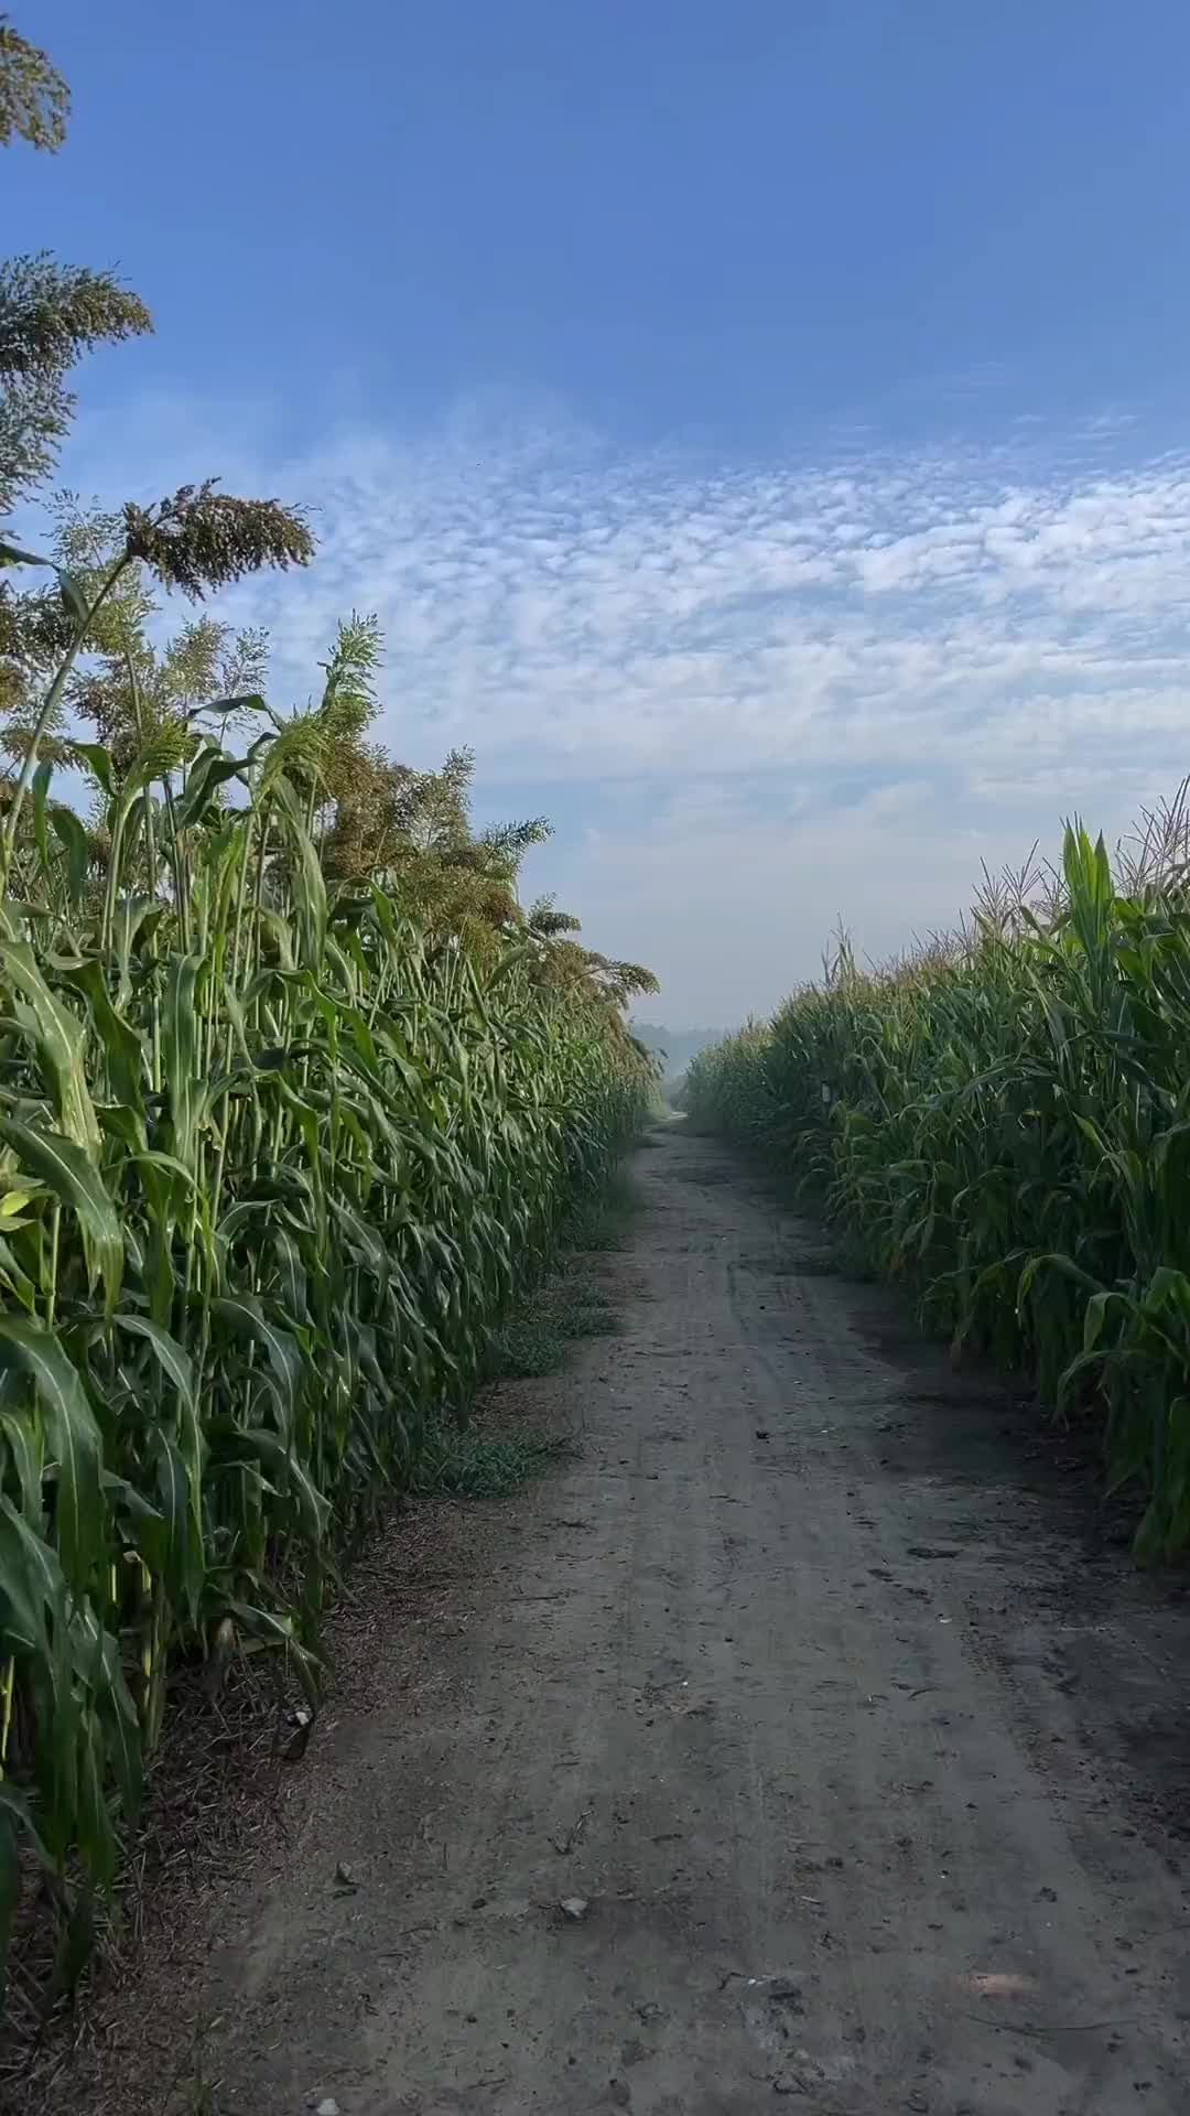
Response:
[[[1190,1606],[722,1149],[639,1176],[582,1454],[307,1765],[214,2105],[1186,2116]]]

